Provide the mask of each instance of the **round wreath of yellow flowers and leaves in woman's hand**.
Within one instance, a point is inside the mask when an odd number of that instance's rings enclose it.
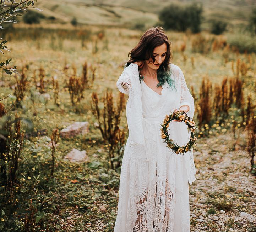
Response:
[[[190,130],[190,140],[183,147],[178,146],[177,143],[175,143],[172,139],[169,138],[169,133],[167,128],[169,127],[170,122],[174,119],[178,119],[185,122]],[[161,137],[164,140],[163,142],[167,143],[167,147],[175,151],[176,154],[183,153],[184,155],[186,152],[190,151],[191,149],[195,149],[197,138],[195,137],[194,132],[196,129],[198,129],[197,127],[195,127],[195,125],[196,124],[193,121],[193,119],[187,116],[186,112],[184,111],[173,112],[170,115],[166,115],[164,118],[163,124],[161,124],[162,126]]]

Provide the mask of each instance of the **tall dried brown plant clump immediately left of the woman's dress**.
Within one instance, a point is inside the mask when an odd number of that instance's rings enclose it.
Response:
[[[99,99],[97,93],[92,93],[92,112],[98,121],[98,129],[102,134],[102,138],[109,144],[109,163],[112,169],[114,169],[115,152],[117,151],[120,156],[120,147],[124,144],[124,132],[120,129],[119,124],[121,121],[121,114],[125,109],[124,94],[119,93],[118,102],[114,107],[112,91],[106,91],[104,93],[101,102],[104,107],[99,109]],[[115,168],[119,167],[120,161],[117,162]]]

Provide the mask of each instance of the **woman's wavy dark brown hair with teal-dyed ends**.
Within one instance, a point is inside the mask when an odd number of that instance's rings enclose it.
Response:
[[[127,63],[124,65],[124,68],[129,66],[131,63],[148,60],[149,58],[151,58],[154,63],[156,60],[153,55],[154,48],[162,45],[163,43],[166,43],[167,45],[167,52],[163,63],[157,70],[157,80],[159,81],[157,87],[164,85],[166,81],[171,88],[175,88],[175,80],[171,78],[171,41],[168,40],[168,37],[162,27],[157,26],[154,28],[149,28],[141,36],[138,44],[129,52],[129,61],[127,61]],[[141,79],[142,77],[140,77],[140,81]]]

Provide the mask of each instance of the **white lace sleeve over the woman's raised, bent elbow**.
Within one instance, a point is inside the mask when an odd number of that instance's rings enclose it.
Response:
[[[130,95],[130,92],[132,90],[132,85],[131,85],[131,80],[130,80],[130,75],[135,74],[136,76],[139,75],[138,73],[138,65],[131,63],[129,66],[124,68],[124,71],[122,74],[119,76],[116,86],[118,90],[121,93],[127,94],[128,96]]]

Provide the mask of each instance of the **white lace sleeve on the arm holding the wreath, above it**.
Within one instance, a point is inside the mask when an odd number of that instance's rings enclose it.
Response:
[[[183,105],[189,106],[189,111],[187,112],[187,116],[189,116],[190,118],[193,118],[194,112],[195,112],[194,98],[191,95],[189,88],[187,87],[185,77],[181,69],[179,71],[179,78],[180,78],[180,87],[181,87],[180,107]]]

